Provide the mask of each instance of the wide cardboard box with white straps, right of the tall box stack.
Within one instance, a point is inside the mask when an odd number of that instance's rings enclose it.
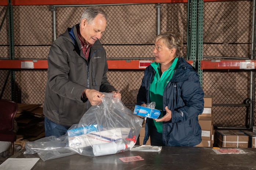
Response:
[[[247,148],[249,136],[238,130],[217,130],[216,142],[219,147]]]

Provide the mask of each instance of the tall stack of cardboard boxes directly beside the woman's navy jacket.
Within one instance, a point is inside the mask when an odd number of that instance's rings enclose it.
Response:
[[[202,142],[197,147],[213,146],[213,124],[212,124],[212,97],[204,97],[204,111],[198,116],[198,122],[202,129]]]

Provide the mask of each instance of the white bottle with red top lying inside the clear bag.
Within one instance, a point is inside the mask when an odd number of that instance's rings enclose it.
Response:
[[[127,144],[115,142],[95,144],[93,146],[93,153],[95,156],[111,155],[120,152],[121,150],[127,149]]]

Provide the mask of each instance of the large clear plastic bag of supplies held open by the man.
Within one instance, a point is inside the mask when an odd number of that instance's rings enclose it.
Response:
[[[102,103],[92,106],[65,135],[27,142],[23,154],[37,153],[45,161],[76,153],[101,156],[131,150],[143,119],[113,98],[113,93],[103,94]]]

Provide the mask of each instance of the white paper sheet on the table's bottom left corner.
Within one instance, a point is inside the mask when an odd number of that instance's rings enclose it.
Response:
[[[39,158],[8,158],[0,165],[1,170],[31,170]]]

